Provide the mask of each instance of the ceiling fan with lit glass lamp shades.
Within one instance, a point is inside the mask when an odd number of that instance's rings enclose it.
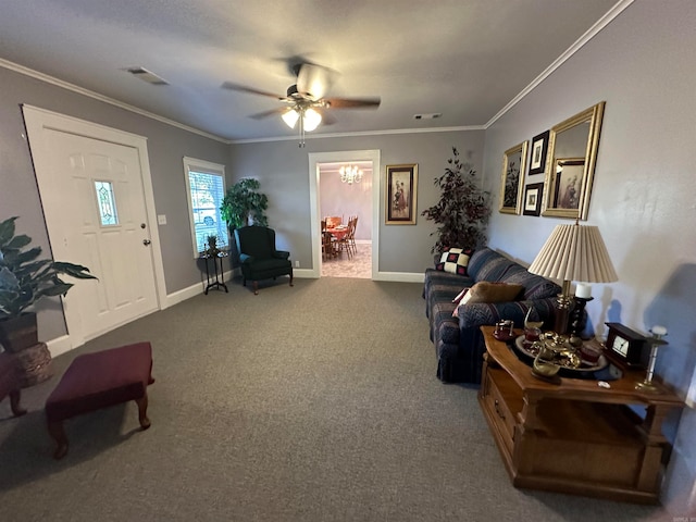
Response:
[[[297,76],[295,84],[287,88],[285,96],[274,95],[253,87],[247,87],[232,82],[222,84],[223,88],[274,98],[283,107],[251,114],[249,117],[261,120],[274,114],[281,117],[290,128],[299,123],[300,147],[304,146],[304,132],[314,130],[322,122],[322,113],[327,109],[376,109],[380,98],[325,98],[325,94],[333,83],[335,71],[313,63],[298,63],[293,66]]]

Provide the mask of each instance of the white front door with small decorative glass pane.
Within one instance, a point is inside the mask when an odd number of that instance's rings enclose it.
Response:
[[[25,117],[53,258],[99,277],[64,299],[79,346],[160,308],[141,150]]]

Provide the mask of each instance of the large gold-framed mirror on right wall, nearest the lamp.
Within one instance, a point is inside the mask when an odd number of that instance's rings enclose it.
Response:
[[[601,101],[551,127],[542,215],[587,219],[604,112]]]

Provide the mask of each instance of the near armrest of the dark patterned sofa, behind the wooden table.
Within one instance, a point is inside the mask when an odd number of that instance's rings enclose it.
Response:
[[[534,307],[530,319],[544,321],[546,327],[554,324],[555,298],[532,299],[526,301],[507,302],[475,302],[459,307],[459,327],[478,328],[478,326],[494,325],[498,321],[512,320],[517,328],[524,327],[524,318],[531,307]]]

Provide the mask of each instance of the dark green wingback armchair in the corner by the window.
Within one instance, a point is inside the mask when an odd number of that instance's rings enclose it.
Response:
[[[265,226],[244,226],[235,229],[235,240],[241,263],[244,285],[253,283],[253,294],[259,294],[259,281],[289,275],[293,286],[290,252],[275,249],[275,231]]]

